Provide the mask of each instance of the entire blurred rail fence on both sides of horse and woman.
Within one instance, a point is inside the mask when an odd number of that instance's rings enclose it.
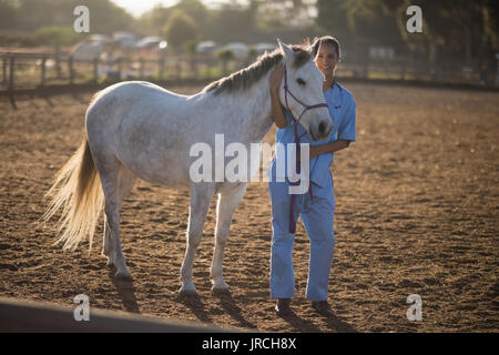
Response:
[[[13,52],[0,52],[0,60],[2,67],[0,94],[10,97],[13,105],[16,105],[14,94],[23,90],[43,90],[53,85],[99,85],[121,80],[207,82],[248,65],[253,61],[252,59],[223,61],[213,54],[77,59],[67,53]],[[339,65],[336,74],[338,78],[364,80],[483,84],[482,73],[473,68],[449,65],[445,69],[429,70],[421,63],[409,65],[405,58],[389,61],[367,59],[357,59],[356,62],[346,61]],[[496,78],[489,79],[488,82],[497,85],[498,80],[493,79]]]

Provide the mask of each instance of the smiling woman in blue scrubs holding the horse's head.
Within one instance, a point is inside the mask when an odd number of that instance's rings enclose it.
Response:
[[[273,161],[269,182],[272,200],[272,256],[271,256],[271,296],[277,298],[275,311],[278,315],[291,314],[291,298],[295,296],[293,267],[294,229],[289,220],[297,221],[302,216],[303,224],[310,240],[310,258],[308,264],[308,281],[306,297],[312,301],[312,307],[323,316],[332,316],[327,303],[329,271],[335,246],[333,221],[335,197],[333,178],[329,166],[334,153],[348,148],[355,142],[356,104],[352,93],[335,81],[336,65],[340,60],[338,41],[329,36],[316,38],[309,47],[309,52],[318,70],[324,74],[323,91],[334,119],[334,128],[327,140],[314,142],[304,134],[299,143],[309,143],[309,178],[308,192],[296,195],[294,207],[288,193],[288,182],[276,182]],[[284,75],[284,67],[277,67],[269,77],[272,113],[277,125],[276,143],[294,142],[293,116],[283,108],[279,101],[279,88]],[[298,136],[305,132],[298,124]],[[289,212],[292,211],[292,212]],[[294,214],[293,216],[291,214]]]

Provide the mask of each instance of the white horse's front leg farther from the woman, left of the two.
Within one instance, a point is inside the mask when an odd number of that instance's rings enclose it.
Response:
[[[210,202],[215,192],[214,183],[193,183],[191,185],[191,205],[189,207],[187,246],[181,267],[181,294],[195,294],[196,287],[192,281],[192,265],[196,248],[203,236],[203,226],[210,209]]]

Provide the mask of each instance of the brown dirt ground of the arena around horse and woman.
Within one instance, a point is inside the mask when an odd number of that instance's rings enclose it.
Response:
[[[102,227],[63,252],[54,221],[37,220],[57,170],[80,144],[91,94],[0,101],[0,295],[262,332],[499,331],[499,93],[345,84],[357,101],[357,143],[336,155],[336,250],[329,283],[335,317],[305,300],[308,239],[294,247],[295,316],[273,313],[268,272],[271,205],[252,183],[226,247],[230,296],[211,293],[215,200],[194,264],[198,298],[182,298],[187,191],[140,182],[122,211],[133,282],[119,282],[101,256]],[[193,93],[200,88],[169,88]],[[275,129],[266,141],[273,142]],[[422,321],[409,322],[410,294]],[[74,306],[74,305],[73,305]]]

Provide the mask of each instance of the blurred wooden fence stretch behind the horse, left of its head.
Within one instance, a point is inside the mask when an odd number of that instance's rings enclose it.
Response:
[[[75,59],[70,54],[0,53],[1,87],[6,90],[43,88],[49,84],[81,84],[110,80],[220,78],[240,69],[244,63],[233,60],[223,65],[213,55],[165,55],[102,60]]]

